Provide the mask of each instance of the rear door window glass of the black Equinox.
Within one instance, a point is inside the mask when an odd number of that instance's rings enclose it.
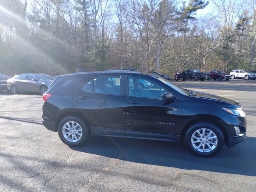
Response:
[[[120,76],[94,77],[94,93],[120,95]]]

